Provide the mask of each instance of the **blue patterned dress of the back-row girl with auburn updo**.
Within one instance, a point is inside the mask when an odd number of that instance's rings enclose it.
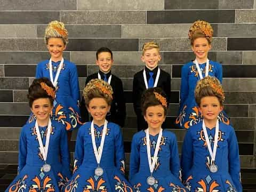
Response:
[[[205,77],[206,63],[200,64],[202,76]],[[222,66],[218,62],[210,60],[209,76],[216,77],[222,82]],[[202,121],[201,113],[197,108],[195,101],[195,87],[199,81],[199,73],[193,61],[186,63],[181,70],[181,86],[180,86],[180,108],[179,116],[176,118],[175,124],[180,128],[188,129],[190,126]],[[225,111],[221,111],[218,116],[219,121],[229,125],[229,118]]]

